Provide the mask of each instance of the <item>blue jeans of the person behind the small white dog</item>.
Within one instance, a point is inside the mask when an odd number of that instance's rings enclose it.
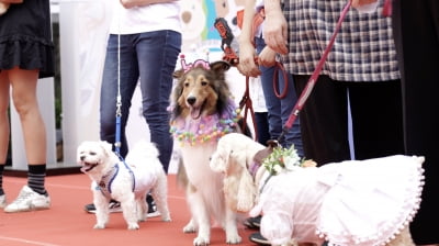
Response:
[[[100,101],[100,136],[102,141],[115,142],[115,114],[117,97],[117,35],[110,35],[103,69]],[[159,159],[167,171],[172,155],[173,141],[169,133],[169,97],[172,74],[181,49],[181,34],[175,31],[156,31],[121,35],[120,92],[121,156],[125,157],[128,145],[125,136],[131,100],[140,82],[142,114],[149,127],[150,141],[156,144]],[[146,131],[138,130],[138,131]]]

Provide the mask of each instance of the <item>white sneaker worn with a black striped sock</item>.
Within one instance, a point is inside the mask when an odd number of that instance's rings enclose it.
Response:
[[[4,208],[7,213],[27,212],[32,210],[46,210],[50,206],[48,195],[38,194],[27,186],[24,186],[19,197]]]

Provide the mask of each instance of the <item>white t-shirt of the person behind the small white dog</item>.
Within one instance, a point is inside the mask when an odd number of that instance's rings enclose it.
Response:
[[[131,9],[125,9],[119,0],[112,1],[111,34],[135,34],[160,30],[172,30],[181,33],[179,1]]]

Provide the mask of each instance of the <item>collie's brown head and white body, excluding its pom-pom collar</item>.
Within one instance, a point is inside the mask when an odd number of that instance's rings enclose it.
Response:
[[[216,62],[210,68],[195,66],[187,71],[178,70],[178,79],[172,92],[172,118],[184,122],[196,122],[203,116],[222,115],[230,102],[232,93],[225,81],[225,71],[229,64]],[[236,125],[236,127],[238,127]],[[196,134],[196,133],[194,133]],[[175,137],[176,144],[180,142]],[[187,200],[192,213],[191,221],[184,226],[184,233],[195,233],[194,245],[209,245],[211,226],[214,219],[226,233],[227,244],[238,244],[237,216],[224,201],[223,175],[209,167],[211,155],[216,149],[217,141],[213,139],[188,144],[181,143],[180,171],[187,177]],[[183,176],[184,177],[184,176]]]

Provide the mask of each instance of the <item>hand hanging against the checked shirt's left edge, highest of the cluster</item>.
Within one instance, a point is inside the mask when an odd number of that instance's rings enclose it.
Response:
[[[275,53],[288,54],[286,47],[286,20],[279,8],[266,9],[266,20],[263,22],[263,40],[267,46]]]

